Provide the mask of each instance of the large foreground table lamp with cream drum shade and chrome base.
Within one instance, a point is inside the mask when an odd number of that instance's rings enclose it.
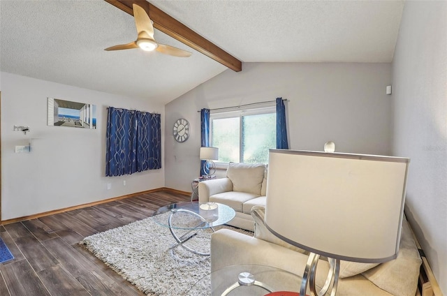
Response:
[[[397,257],[409,158],[270,149],[265,224],[310,252],[300,295],[335,296],[340,260]],[[316,267],[330,269],[316,290]],[[293,264],[293,263],[292,263]]]

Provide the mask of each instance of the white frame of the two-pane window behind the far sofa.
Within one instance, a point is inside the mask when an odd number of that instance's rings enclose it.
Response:
[[[212,131],[213,131],[213,120],[214,119],[225,119],[225,118],[235,118],[239,117],[239,161],[242,159],[242,154],[244,151],[242,150],[242,117],[244,116],[251,116],[251,115],[259,115],[259,114],[275,114],[276,116],[276,105],[274,103],[269,104],[268,106],[264,107],[258,107],[258,108],[228,108],[233,110],[217,110],[210,112],[210,142],[212,144]],[[236,109],[236,110],[234,110]],[[214,161],[216,164],[216,168],[226,169],[228,168],[228,163],[220,162],[220,161]]]

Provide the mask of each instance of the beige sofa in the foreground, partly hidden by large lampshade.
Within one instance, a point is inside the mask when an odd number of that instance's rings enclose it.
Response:
[[[303,274],[307,253],[278,239],[264,225],[264,207],[254,207],[254,237],[221,229],[211,239],[212,271],[230,265],[260,264]],[[422,260],[406,221],[399,255],[382,264],[342,261],[337,296],[414,296]],[[318,262],[317,284],[323,286],[328,262]]]

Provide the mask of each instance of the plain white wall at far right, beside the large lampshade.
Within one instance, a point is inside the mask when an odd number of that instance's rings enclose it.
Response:
[[[447,295],[447,2],[406,1],[393,61],[394,154],[406,214]]]

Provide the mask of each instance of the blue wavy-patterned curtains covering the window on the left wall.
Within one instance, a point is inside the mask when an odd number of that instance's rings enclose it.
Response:
[[[160,114],[154,115],[160,118]],[[160,119],[155,122],[158,127],[152,126],[152,121],[147,112],[108,109],[105,176],[161,168]]]

